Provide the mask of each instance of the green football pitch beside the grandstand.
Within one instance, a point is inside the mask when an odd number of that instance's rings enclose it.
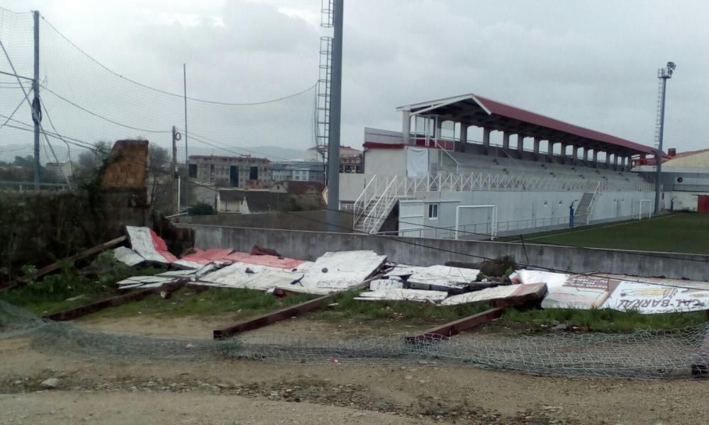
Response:
[[[675,212],[644,220],[523,235],[530,244],[709,254],[709,214]],[[520,237],[501,240],[519,242]]]

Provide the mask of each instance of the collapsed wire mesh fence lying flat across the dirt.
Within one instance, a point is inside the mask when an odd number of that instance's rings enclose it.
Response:
[[[709,324],[630,334],[466,334],[406,341],[403,335],[333,339],[243,334],[182,339],[112,334],[48,322],[0,301],[0,340],[29,338],[49,355],[96,361],[207,361],[246,358],[287,364],[474,365],[533,375],[677,379],[709,377]]]

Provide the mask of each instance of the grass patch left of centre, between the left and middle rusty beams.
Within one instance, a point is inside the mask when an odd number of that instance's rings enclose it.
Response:
[[[137,314],[207,316],[228,312],[240,312],[250,316],[279,310],[312,298],[312,295],[306,294],[278,298],[252,289],[209,288],[196,293],[194,288],[184,288],[174,292],[167,300],[160,295],[150,295],[143,300],[109,307],[91,314],[91,317],[125,317]]]

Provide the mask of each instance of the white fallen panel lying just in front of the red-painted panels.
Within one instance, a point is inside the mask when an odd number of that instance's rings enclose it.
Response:
[[[233,263],[199,278],[199,283],[225,288],[272,290],[289,287],[303,278],[303,273],[257,264]]]

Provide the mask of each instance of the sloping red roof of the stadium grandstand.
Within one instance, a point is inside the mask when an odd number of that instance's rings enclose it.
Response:
[[[421,116],[437,115],[445,120],[467,123],[525,137],[541,137],[554,142],[576,143],[579,146],[608,152],[654,154],[655,149],[630,140],[579,127],[545,115],[516,108],[489,98],[466,94],[452,98],[400,106],[397,111],[411,111]]]

